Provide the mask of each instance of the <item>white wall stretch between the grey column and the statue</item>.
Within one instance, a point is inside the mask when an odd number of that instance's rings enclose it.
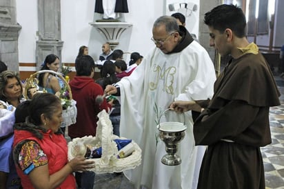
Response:
[[[80,46],[89,46],[94,1],[61,0],[62,62],[72,63]],[[90,48],[90,55],[94,50]]]

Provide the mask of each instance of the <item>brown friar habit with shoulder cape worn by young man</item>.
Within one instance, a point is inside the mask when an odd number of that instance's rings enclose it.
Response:
[[[194,123],[196,145],[208,146],[199,189],[265,188],[260,147],[271,143],[270,106],[280,104],[267,65],[260,53],[243,54],[216,80],[212,100]]]

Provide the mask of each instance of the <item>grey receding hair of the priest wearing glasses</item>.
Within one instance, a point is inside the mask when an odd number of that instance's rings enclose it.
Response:
[[[165,32],[168,34],[179,31],[179,25],[174,17],[161,16],[154,22],[153,28],[165,26]]]

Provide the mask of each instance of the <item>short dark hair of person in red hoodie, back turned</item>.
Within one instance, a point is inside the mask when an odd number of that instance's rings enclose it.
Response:
[[[94,70],[94,59],[90,55],[79,57],[75,61],[75,68],[77,76],[90,76]]]

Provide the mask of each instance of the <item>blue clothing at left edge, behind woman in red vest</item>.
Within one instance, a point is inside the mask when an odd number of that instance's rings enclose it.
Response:
[[[21,186],[21,181],[17,175],[14,159],[12,156],[12,143],[14,135],[0,142],[0,171],[8,174],[6,188],[14,189]]]

